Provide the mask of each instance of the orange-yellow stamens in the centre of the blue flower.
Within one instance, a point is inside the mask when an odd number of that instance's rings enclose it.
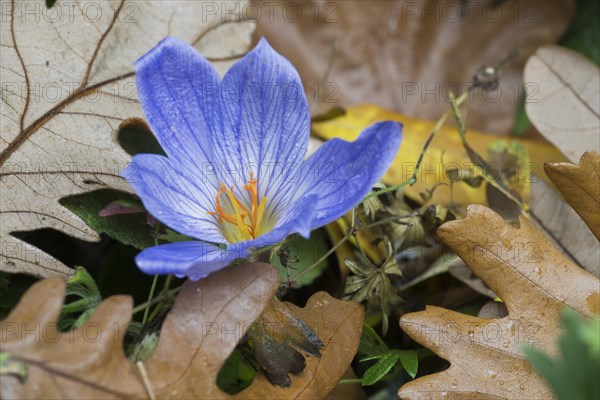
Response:
[[[220,224],[223,224],[224,231],[231,232],[233,228],[233,232],[230,235],[225,235],[230,241],[255,239],[261,235],[261,224],[267,199],[263,197],[259,202],[258,179],[254,177],[252,172],[250,173],[248,183],[244,185],[244,189],[250,195],[250,210],[235,196],[233,186],[228,189],[222,183],[215,199],[215,211],[209,212],[210,215],[217,217]],[[221,195],[223,192],[227,195],[233,212],[226,211],[221,205]]]

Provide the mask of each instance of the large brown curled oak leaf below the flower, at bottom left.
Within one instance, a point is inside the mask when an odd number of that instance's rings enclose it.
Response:
[[[325,343],[321,358],[311,357],[306,370],[292,378],[291,388],[281,392],[262,374],[237,397],[217,387],[221,366],[278,287],[277,271],[262,263],[186,282],[162,326],[156,351],[144,364],[156,398],[325,397],[356,353],[363,319],[358,305],[325,293],[311,297],[305,308],[287,305]],[[41,281],[0,323],[2,351],[24,361],[29,370],[24,384],[16,376],[2,376],[0,397],[148,398],[141,371],[123,353],[131,299],[110,297],[80,329],[59,333],[63,296],[60,279]]]

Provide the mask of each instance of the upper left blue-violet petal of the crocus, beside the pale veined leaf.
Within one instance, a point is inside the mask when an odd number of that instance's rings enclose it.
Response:
[[[189,44],[163,39],[135,64],[138,96],[150,128],[169,158],[208,175],[219,76]]]

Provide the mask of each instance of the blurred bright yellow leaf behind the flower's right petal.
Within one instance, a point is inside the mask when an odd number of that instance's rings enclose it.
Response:
[[[312,127],[314,133],[322,139],[339,137],[345,140],[354,140],[364,128],[377,121],[385,120],[399,121],[404,124],[404,138],[400,151],[383,178],[387,184],[394,185],[404,182],[412,176],[425,141],[434,129],[435,122],[413,119],[376,105],[363,104],[349,107],[346,110],[346,115],[342,117],[324,122],[313,122]],[[482,156],[487,154],[490,144],[502,139],[506,140],[507,136],[487,134],[475,130],[467,131],[468,143]],[[529,152],[530,162],[521,166],[525,170],[520,175],[525,176],[525,179],[542,178],[547,181],[548,178],[542,168],[543,163],[566,161],[560,151],[550,144],[522,139],[519,139],[518,142]],[[452,168],[476,170],[463,148],[456,129],[450,126],[442,126],[423,158],[423,164],[417,176],[417,183],[407,187],[405,193],[413,200],[421,201],[419,192],[430,189],[438,182],[449,183],[447,172]],[[493,173],[494,171],[488,172]],[[524,200],[525,202],[528,201],[528,199]],[[436,204],[450,206],[449,186],[441,185],[437,188],[431,201]],[[473,188],[464,183],[455,184],[454,203],[462,207],[470,203],[487,205],[485,185]]]

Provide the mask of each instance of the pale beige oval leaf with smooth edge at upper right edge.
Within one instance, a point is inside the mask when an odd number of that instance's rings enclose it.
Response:
[[[525,66],[531,122],[571,162],[600,152],[600,68],[560,46],[538,49]]]

